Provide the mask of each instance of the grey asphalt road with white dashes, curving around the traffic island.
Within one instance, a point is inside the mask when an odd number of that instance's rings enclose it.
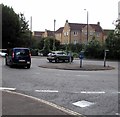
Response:
[[[83,115],[118,114],[117,62],[107,62],[115,69],[103,71],[39,67],[46,62],[46,58],[33,57],[31,68],[23,69],[5,66],[3,60],[2,87],[15,88],[16,92],[44,99]],[[79,60],[74,62],[79,64]],[[83,64],[86,62],[103,64],[103,61],[89,60],[84,60]]]

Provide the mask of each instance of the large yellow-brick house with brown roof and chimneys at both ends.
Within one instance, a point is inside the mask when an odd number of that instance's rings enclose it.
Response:
[[[60,40],[61,44],[69,43],[87,43],[87,24],[81,23],[69,23],[66,20],[64,27],[59,28],[55,33],[56,39]],[[88,24],[88,41],[93,37],[103,42],[104,32],[100,26],[97,24]]]

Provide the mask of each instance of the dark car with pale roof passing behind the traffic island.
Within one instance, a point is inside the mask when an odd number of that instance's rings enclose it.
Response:
[[[71,62],[73,61],[73,56],[70,54],[67,54],[64,51],[53,51],[51,53],[48,54],[47,59],[49,60],[49,62]]]

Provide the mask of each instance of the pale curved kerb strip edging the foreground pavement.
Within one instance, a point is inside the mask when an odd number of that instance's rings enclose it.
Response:
[[[17,92],[12,92],[12,91],[5,91],[5,92],[12,93],[12,94],[15,94],[15,95],[24,96],[24,97],[27,97],[27,98],[31,98],[31,99],[33,99],[33,100],[35,100],[35,101],[42,102],[42,103],[44,103],[44,104],[46,104],[46,105],[49,105],[49,106],[51,106],[51,107],[54,107],[54,108],[56,108],[56,109],[58,109],[58,110],[61,110],[61,111],[65,112],[65,113],[68,113],[69,115],[75,115],[75,116],[79,116],[79,117],[82,116],[82,114],[80,114],[80,113],[78,113],[78,112],[69,110],[69,109],[67,109],[67,108],[64,108],[64,107],[59,106],[59,105],[56,105],[56,104],[54,104],[54,103],[45,101],[45,100],[43,100],[43,99],[39,99],[39,98],[36,98],[36,97],[33,97],[33,96],[29,96],[29,95],[25,95],[25,94],[17,93]],[[82,117],[83,117],[83,116],[82,116]]]

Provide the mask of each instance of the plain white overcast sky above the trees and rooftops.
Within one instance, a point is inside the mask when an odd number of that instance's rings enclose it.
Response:
[[[118,19],[120,0],[0,0],[0,3],[23,13],[32,31],[55,30],[69,23],[88,23],[100,25],[103,29],[114,29]],[[86,10],[85,10],[86,9]],[[32,17],[32,23],[30,19]],[[30,27],[29,27],[30,28]]]

